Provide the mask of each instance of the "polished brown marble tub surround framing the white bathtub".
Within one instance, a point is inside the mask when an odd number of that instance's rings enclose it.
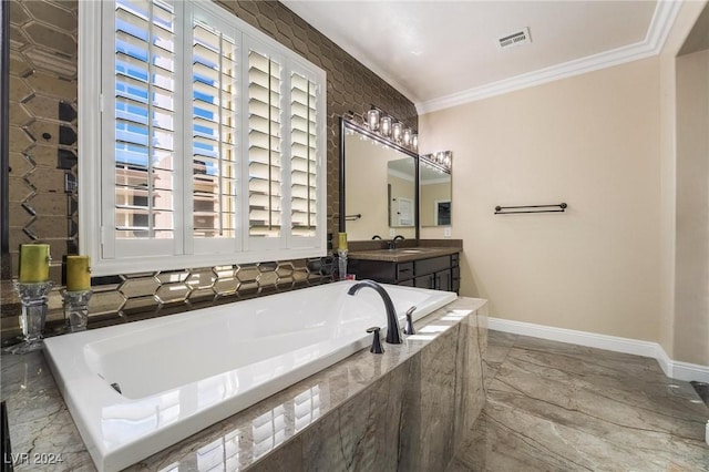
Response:
[[[129,470],[443,470],[484,404],[484,304],[460,297],[384,355],[363,349]],[[2,376],[13,453],[93,470],[42,355],[3,355]]]

